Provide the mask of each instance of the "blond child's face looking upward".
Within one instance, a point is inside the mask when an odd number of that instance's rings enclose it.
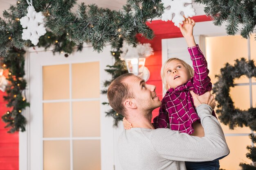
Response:
[[[180,60],[170,61],[166,65],[165,79],[168,84],[168,88],[175,88],[189,81],[191,76],[189,70],[187,70]]]

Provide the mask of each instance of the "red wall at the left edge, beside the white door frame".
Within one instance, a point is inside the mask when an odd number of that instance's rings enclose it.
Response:
[[[7,102],[4,101],[5,93],[0,91],[0,117],[8,111]],[[0,120],[0,170],[19,169],[19,133],[7,133],[6,124]]]

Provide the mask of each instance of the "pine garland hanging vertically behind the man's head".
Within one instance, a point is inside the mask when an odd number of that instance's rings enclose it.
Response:
[[[122,74],[128,73],[125,61],[122,61],[120,59],[120,54],[122,53],[120,48],[122,47],[122,45],[123,45],[123,39],[120,39],[119,46],[118,46],[117,50],[111,51],[112,56],[115,58],[115,63],[114,63],[114,65],[107,65],[107,67],[109,69],[105,69],[106,72],[108,72],[109,74],[112,75],[112,78],[111,78],[111,80],[107,80],[104,82],[104,87],[108,87],[113,80],[115,80],[117,77],[121,76]],[[107,89],[101,91],[102,94],[107,94],[107,92],[108,92]],[[108,105],[109,103],[104,102],[102,104]],[[124,118],[124,116],[117,113],[113,109],[110,109],[109,111],[106,111],[105,113],[106,113],[106,116],[111,116],[112,118],[114,118],[113,126],[117,126],[118,122],[120,120],[123,120],[123,118]]]

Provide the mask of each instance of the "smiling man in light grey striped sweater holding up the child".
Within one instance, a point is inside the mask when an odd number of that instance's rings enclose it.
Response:
[[[204,127],[204,137],[154,129],[152,111],[161,105],[154,85],[130,73],[111,83],[110,106],[133,127],[124,130],[119,138],[119,161],[124,170],[186,170],[184,161],[212,161],[229,154],[220,124],[211,115],[216,105],[213,96],[209,92],[202,96],[191,94]]]

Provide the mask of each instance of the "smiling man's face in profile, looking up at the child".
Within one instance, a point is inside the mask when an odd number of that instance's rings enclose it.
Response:
[[[145,113],[161,106],[161,101],[156,95],[155,85],[148,85],[138,76],[131,76],[126,80],[130,91],[135,96],[137,107]],[[151,114],[151,112],[150,112]]]

